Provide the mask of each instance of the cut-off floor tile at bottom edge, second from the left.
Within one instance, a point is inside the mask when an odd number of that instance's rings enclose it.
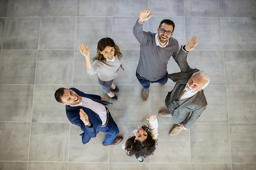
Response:
[[[28,170],[64,170],[67,169],[67,162],[29,162]]]

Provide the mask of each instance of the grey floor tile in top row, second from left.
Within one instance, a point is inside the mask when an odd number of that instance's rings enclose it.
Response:
[[[43,0],[8,0],[7,17],[40,17],[42,3]]]

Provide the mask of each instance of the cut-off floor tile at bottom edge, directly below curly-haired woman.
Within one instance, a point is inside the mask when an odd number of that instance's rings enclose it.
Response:
[[[149,163],[109,163],[109,169],[149,169]]]

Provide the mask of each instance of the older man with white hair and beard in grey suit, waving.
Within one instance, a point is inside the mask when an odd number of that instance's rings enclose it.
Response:
[[[192,51],[197,44],[197,38],[194,36],[185,46],[182,46],[178,54],[181,72],[168,74],[168,78],[176,84],[165,98],[168,110],[160,111],[159,115],[173,117],[176,125],[170,130],[170,136],[190,128],[207,106],[203,90],[209,84],[210,78],[205,72],[190,68],[187,62],[188,52]]]

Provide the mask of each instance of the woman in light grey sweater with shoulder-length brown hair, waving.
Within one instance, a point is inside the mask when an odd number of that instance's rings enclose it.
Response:
[[[104,93],[107,93],[111,99],[117,100],[117,96],[112,91],[118,92],[118,87],[113,83],[117,77],[119,68],[122,67],[120,59],[123,57],[119,47],[111,38],[102,38],[98,42],[97,56],[93,58],[93,65],[90,61],[90,50],[83,44],[79,44],[80,52],[86,57],[86,68],[89,75],[98,73],[98,82]],[[110,89],[112,91],[110,91]]]

